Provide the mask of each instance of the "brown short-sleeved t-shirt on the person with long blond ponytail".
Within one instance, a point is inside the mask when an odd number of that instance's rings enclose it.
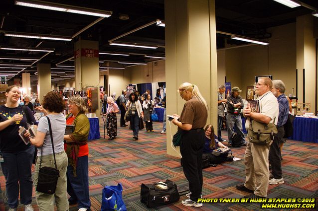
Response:
[[[192,125],[192,129],[203,128],[207,121],[207,111],[201,101],[195,96],[188,100],[181,112],[179,121],[182,124]]]

